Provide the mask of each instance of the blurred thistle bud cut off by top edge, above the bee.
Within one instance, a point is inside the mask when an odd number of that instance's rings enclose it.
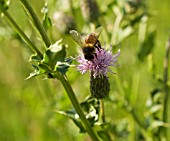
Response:
[[[80,0],[82,15],[87,22],[96,22],[100,16],[96,0]]]

